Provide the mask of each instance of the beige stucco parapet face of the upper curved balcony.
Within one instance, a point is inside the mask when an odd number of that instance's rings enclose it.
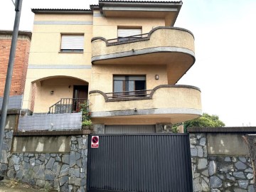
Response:
[[[124,43],[118,46],[106,46],[105,41],[99,39],[92,41],[92,57],[98,55],[107,55],[112,53],[122,53],[134,50],[143,50],[145,48],[157,47],[176,47],[194,50],[194,38],[191,33],[178,29],[161,28],[151,33],[148,41],[139,41],[134,43]]]

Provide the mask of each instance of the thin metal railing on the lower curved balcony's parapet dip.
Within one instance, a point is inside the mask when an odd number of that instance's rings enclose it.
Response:
[[[122,98],[122,97],[149,97],[151,90],[133,90],[123,92],[106,92],[108,98]]]

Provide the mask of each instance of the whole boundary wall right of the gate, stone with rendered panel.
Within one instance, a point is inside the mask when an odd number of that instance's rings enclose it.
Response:
[[[243,136],[256,127],[188,128],[193,191],[255,191],[252,158]]]

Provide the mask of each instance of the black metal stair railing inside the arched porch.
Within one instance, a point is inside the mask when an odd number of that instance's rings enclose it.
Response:
[[[79,104],[85,102],[86,98],[61,98],[60,101],[49,107],[49,114],[79,112]]]

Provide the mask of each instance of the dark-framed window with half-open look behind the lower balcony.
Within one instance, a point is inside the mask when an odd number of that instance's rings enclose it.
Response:
[[[146,76],[114,75],[114,96],[146,96]]]

